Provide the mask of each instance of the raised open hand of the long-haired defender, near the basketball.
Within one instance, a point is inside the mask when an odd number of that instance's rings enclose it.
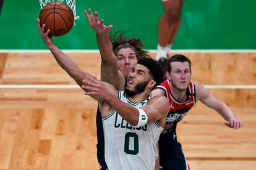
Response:
[[[98,18],[98,12],[95,11],[95,17],[93,16],[92,9],[89,9],[89,14],[87,13],[87,10],[84,10],[85,16],[88,19],[88,22],[92,29],[98,33],[98,34],[105,34],[107,33],[111,28],[113,28],[113,25],[106,26],[104,24],[104,20],[100,20]]]

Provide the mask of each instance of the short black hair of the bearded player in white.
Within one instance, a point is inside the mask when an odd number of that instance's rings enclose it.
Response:
[[[142,57],[137,63],[148,68],[151,78],[156,81],[153,89],[163,82],[163,68],[154,59]]]

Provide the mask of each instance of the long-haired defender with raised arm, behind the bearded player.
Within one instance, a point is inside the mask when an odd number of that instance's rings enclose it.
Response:
[[[101,54],[101,81],[112,84],[116,89],[124,91],[126,79],[131,69],[137,64],[140,57],[149,57],[147,51],[144,51],[140,39],[126,38],[124,33],[114,34],[111,37],[108,31],[112,25],[104,25],[103,20],[98,20],[98,13],[91,9],[85,10],[85,16],[89,25],[96,32],[98,48]],[[108,169],[105,162],[105,141],[103,133],[103,124],[100,110],[97,109],[96,115],[97,127],[97,158],[101,169]]]

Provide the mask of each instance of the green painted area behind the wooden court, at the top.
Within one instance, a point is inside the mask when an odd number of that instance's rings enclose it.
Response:
[[[76,21],[70,33],[53,38],[61,49],[97,49],[95,33],[83,9],[97,10],[114,31],[142,39],[156,49],[160,0],[77,0]],[[173,49],[256,49],[255,0],[185,0],[182,23]],[[38,34],[38,0],[4,0],[0,15],[0,49],[46,49]]]

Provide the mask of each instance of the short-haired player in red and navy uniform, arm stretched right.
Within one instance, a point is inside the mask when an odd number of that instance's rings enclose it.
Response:
[[[226,121],[226,126],[234,129],[242,127],[242,122],[225,103],[216,99],[202,85],[190,81],[190,65],[190,60],[184,55],[173,55],[167,62],[167,79],[152,91],[152,95],[166,96],[170,104],[166,125],[158,141],[160,166],[163,169],[189,169],[181,144],[177,142],[176,126],[197,100],[216,110]]]

